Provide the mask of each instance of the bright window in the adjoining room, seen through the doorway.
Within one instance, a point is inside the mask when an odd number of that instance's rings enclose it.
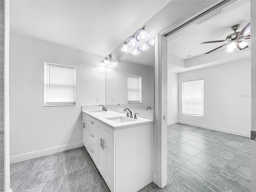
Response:
[[[182,114],[204,116],[204,80],[182,82]]]

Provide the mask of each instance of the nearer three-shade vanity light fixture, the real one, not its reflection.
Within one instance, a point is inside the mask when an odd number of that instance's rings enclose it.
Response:
[[[146,26],[137,30],[133,36],[129,37],[126,40],[126,42],[124,42],[124,45],[122,46],[122,49],[121,49],[122,52],[130,52],[131,47],[134,48],[139,46],[140,43],[138,42],[138,40],[146,41],[150,38],[150,36],[145,30],[145,27]]]

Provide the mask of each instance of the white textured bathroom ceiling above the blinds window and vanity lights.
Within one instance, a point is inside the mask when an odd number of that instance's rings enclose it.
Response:
[[[10,32],[105,56],[170,0],[11,0]]]

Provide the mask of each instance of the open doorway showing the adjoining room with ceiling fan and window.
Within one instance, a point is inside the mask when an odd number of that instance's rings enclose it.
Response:
[[[170,190],[251,191],[250,32],[247,48],[228,40],[248,23],[250,1],[236,1],[166,35]]]

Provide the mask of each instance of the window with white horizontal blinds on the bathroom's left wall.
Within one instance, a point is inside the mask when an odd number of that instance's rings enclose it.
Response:
[[[44,106],[76,104],[76,67],[44,63]]]

